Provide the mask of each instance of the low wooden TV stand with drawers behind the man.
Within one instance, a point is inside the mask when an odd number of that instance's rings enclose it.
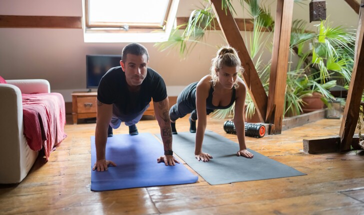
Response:
[[[80,118],[96,117],[96,97],[97,92],[73,92],[72,94],[72,119],[73,124],[77,124]],[[153,101],[143,115],[154,116]]]

